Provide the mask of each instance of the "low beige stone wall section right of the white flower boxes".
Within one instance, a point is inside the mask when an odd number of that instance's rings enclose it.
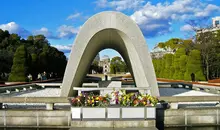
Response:
[[[157,128],[219,126],[220,108],[157,109]]]

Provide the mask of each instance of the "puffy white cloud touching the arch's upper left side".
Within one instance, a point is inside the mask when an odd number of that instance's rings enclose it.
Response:
[[[73,26],[62,25],[58,28],[59,38],[73,38],[80,30],[80,27],[74,28]]]

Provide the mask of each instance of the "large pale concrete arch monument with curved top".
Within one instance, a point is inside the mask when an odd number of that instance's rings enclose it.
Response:
[[[90,17],[75,38],[64,74],[61,96],[76,94],[96,54],[106,48],[118,51],[128,65],[137,87],[151,87],[159,96],[156,75],[144,36],[128,16],[101,12]]]

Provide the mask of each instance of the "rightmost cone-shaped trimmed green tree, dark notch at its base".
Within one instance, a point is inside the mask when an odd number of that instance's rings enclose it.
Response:
[[[201,64],[201,55],[199,50],[192,50],[189,54],[187,65],[186,65],[186,72],[184,74],[184,80],[190,81],[191,74],[195,74],[195,79],[197,81],[204,81],[205,76],[202,70]]]

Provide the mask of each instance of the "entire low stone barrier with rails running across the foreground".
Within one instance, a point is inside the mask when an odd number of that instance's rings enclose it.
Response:
[[[220,101],[220,96],[177,96],[160,97],[160,101],[167,103],[178,102],[212,102]],[[66,97],[0,97],[1,103],[69,103]],[[179,126],[199,126],[220,125],[220,107],[212,108],[181,108],[181,109],[163,109],[157,108],[156,124],[159,128],[179,127]],[[103,123],[104,122],[104,123]],[[0,110],[0,127],[35,127],[35,128],[73,128],[73,127],[91,127],[109,126],[113,127],[152,127],[155,120],[109,120],[109,121],[77,121],[71,119],[70,109],[66,110]],[[131,125],[133,124],[133,125]]]

